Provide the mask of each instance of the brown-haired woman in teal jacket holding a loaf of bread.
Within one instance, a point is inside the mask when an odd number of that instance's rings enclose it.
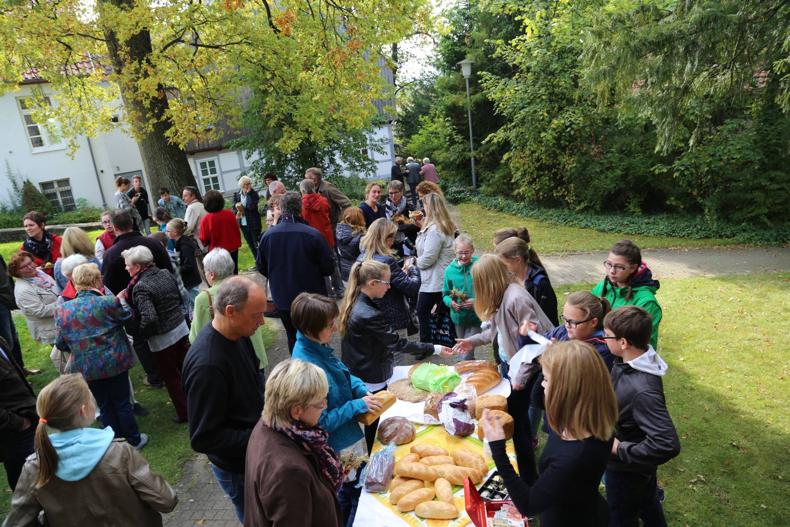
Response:
[[[329,379],[326,408],[318,424],[329,433],[329,446],[341,456],[365,455],[364,435],[355,418],[365,412],[378,412],[381,401],[359,377],[351,375],[344,363],[334,356],[329,339],[337,331],[335,321],[340,313],[337,303],[324,295],[300,293],[291,304],[291,321],[296,328],[293,359],[301,359],[320,367]],[[361,467],[360,467],[361,469]],[[356,505],[361,488],[356,469],[348,473],[337,499],[343,511],[343,525],[354,525]]]

